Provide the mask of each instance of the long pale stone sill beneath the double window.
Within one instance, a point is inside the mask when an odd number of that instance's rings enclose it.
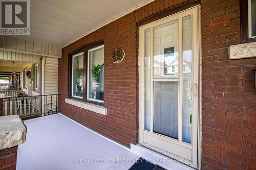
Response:
[[[74,99],[67,99],[67,98],[65,99],[65,102],[70,105],[74,105],[74,106],[77,106],[86,110],[90,110],[99,114],[106,115],[107,113],[107,109],[103,106],[98,106],[98,105],[94,105],[86,102],[77,101]]]

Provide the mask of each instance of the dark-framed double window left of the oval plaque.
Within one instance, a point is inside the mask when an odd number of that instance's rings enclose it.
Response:
[[[88,45],[71,53],[69,63],[69,98],[103,105],[103,42]]]

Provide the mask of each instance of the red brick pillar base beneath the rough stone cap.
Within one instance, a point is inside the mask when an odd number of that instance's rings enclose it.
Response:
[[[18,146],[0,150],[0,169],[15,170]]]

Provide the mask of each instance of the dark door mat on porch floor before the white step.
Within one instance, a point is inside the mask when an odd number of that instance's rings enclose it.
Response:
[[[165,168],[155,165],[150,161],[147,161],[143,158],[139,158],[129,170],[166,170]]]

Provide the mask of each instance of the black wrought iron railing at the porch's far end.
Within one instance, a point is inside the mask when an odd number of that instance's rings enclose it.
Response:
[[[60,94],[32,95],[3,99],[3,116],[19,115],[29,119],[59,112],[58,97]]]

